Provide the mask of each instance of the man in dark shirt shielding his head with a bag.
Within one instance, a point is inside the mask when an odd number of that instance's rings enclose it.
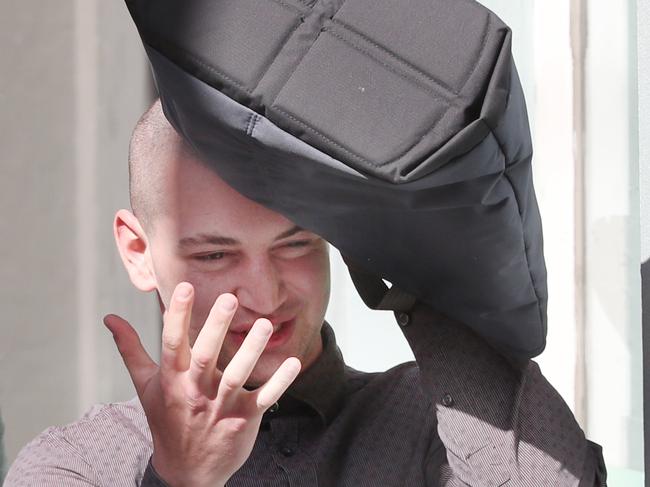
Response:
[[[400,319],[417,365],[346,367],[323,323],[326,242],[226,185],[159,103],[130,178],[115,238],[132,283],[158,293],[161,363],[106,317],[139,400],[46,430],[7,486],[605,485],[537,366],[426,306]]]

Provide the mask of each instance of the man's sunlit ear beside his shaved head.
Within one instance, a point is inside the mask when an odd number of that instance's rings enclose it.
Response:
[[[113,234],[133,285],[145,292],[156,289],[149,240],[135,215],[128,210],[119,210],[113,221]]]

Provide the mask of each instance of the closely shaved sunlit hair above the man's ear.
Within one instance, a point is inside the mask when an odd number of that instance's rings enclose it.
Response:
[[[193,151],[163,113],[160,99],[135,125],[129,144],[129,198],[131,210],[147,231],[165,211],[166,168],[173,158]]]

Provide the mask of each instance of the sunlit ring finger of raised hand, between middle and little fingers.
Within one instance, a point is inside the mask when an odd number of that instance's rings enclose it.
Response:
[[[223,371],[219,394],[231,393],[246,384],[272,333],[273,325],[269,320],[260,318],[255,322],[244,343]]]

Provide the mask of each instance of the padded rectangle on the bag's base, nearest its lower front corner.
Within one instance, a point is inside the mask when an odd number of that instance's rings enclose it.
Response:
[[[274,108],[329,144],[337,156],[368,170],[407,151],[434,129],[447,104],[425,85],[357,49],[332,31],[318,38]]]

